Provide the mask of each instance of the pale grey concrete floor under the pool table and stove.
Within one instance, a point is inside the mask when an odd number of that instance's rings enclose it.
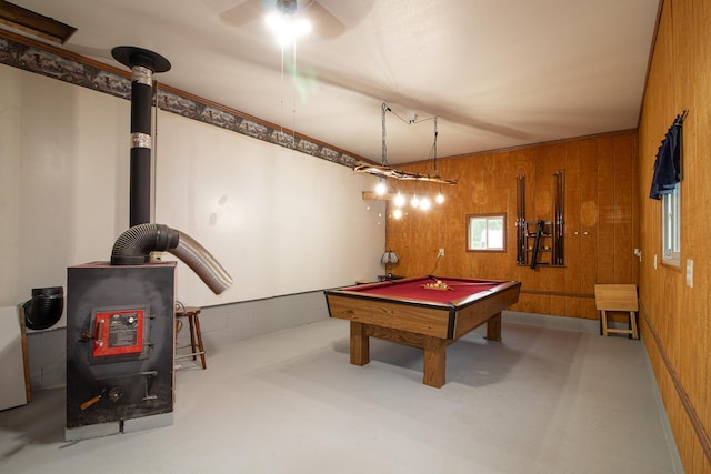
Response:
[[[422,352],[340,320],[180,361],[172,426],[64,442],[63,389],[0,412],[2,473],[678,473],[641,341],[521,324]]]

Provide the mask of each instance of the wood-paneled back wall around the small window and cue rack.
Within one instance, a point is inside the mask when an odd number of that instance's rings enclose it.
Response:
[[[521,281],[522,296],[513,307],[515,311],[598,319],[594,299],[555,293],[593,293],[593,285],[598,281],[597,229],[600,221],[598,168],[602,160],[598,155],[600,149],[605,150],[599,143],[605,139],[614,143],[618,135],[634,137],[634,132],[440,160],[440,174],[458,179],[459,184],[445,188],[447,202],[427,214],[408,208],[400,221],[389,216],[387,246],[401,256],[401,262],[393,271],[408,276],[429,274],[435,262],[437,250],[444,248],[445,256],[438,264],[439,274]],[[624,139],[621,140],[624,142]],[[613,147],[610,150],[613,151]],[[614,163],[613,154],[609,163]],[[420,162],[401,168],[427,172],[429,165]],[[517,265],[515,177],[527,177],[527,220],[551,220],[553,174],[560,170],[564,170],[565,175],[565,266],[541,265],[532,270]],[[614,170],[609,174],[612,177]],[[412,183],[402,182],[399,185],[403,193],[415,190]],[[389,215],[391,212],[392,204],[388,208]],[[467,252],[467,214],[491,212],[507,213],[507,252]],[[631,249],[625,252],[631,253]]]

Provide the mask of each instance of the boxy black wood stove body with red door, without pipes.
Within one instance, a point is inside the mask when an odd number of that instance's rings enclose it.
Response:
[[[68,269],[67,440],[172,424],[176,264]]]

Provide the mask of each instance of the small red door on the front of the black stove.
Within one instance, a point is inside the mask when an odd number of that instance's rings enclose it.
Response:
[[[144,313],[143,309],[97,311],[93,319],[93,356],[142,353]]]

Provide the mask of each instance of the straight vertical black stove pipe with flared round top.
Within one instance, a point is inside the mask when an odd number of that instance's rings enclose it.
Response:
[[[151,103],[153,73],[170,70],[162,56],[137,47],[116,47],[113,59],[131,68],[131,189],[130,225],[150,222],[151,206]]]

